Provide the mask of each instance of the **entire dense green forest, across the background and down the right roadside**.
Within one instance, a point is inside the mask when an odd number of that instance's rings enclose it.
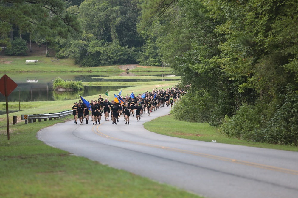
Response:
[[[298,145],[296,0],[14,2],[0,0],[1,46],[47,42],[84,67],[163,61],[188,91],[176,118]]]

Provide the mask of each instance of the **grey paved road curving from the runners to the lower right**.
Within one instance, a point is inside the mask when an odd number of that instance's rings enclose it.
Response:
[[[298,197],[298,152],[167,137],[142,127],[168,112],[164,107],[139,122],[130,117],[130,125],[123,117],[117,126],[69,121],[42,129],[38,137],[78,156],[210,198]]]

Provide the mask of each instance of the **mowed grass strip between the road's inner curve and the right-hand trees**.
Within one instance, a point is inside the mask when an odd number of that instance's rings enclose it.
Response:
[[[245,140],[238,140],[235,138],[227,137],[225,134],[219,132],[215,127],[209,126],[208,123],[191,123],[176,120],[173,115],[166,115],[156,118],[150,122],[144,123],[145,129],[172,137],[180,137],[191,140],[199,140],[205,142],[224,143],[233,145],[244,145],[260,148],[271,148],[287,151],[298,151],[298,147],[273,145],[257,142],[248,142]]]

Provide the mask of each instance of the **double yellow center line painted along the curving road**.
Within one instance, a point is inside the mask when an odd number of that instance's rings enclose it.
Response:
[[[246,166],[252,166],[252,167],[257,167],[257,168],[262,168],[262,169],[266,169],[266,170],[272,170],[272,171],[277,171],[277,172],[283,172],[283,173],[287,173],[287,174],[291,174],[291,175],[298,175],[298,170],[292,170],[292,169],[287,169],[287,168],[280,168],[280,167],[274,167],[274,166],[269,166],[269,165],[265,165],[265,164],[258,164],[258,163],[254,163],[254,162],[249,162],[249,161],[243,161],[243,160],[237,160],[237,159],[232,159],[232,158],[227,158],[227,157],[221,157],[221,156],[216,156],[216,155],[210,155],[210,154],[206,154],[206,153],[199,153],[199,152],[195,152],[195,151],[187,151],[187,150],[183,150],[183,149],[178,149],[178,148],[171,148],[171,147],[165,147],[165,146],[160,146],[160,145],[153,145],[153,144],[147,144],[147,143],[141,143],[141,142],[134,142],[134,141],[129,141],[129,140],[123,140],[123,139],[119,139],[116,137],[111,137],[108,136],[106,134],[103,134],[102,132],[100,132],[98,130],[98,127],[96,127],[96,131],[95,131],[95,126],[92,127],[92,131],[101,136],[101,137],[105,137],[108,138],[110,140],[116,140],[119,142],[128,142],[131,144],[136,144],[136,145],[142,145],[142,146],[148,146],[148,147],[152,147],[152,148],[161,148],[161,149],[165,149],[168,151],[175,151],[175,152],[179,152],[179,153],[185,153],[185,154],[190,154],[190,155],[195,155],[195,156],[201,156],[201,157],[206,157],[206,158],[210,158],[210,159],[216,159],[216,160],[221,160],[221,161],[227,161],[227,162],[232,162],[235,164],[242,164],[242,165],[246,165]]]

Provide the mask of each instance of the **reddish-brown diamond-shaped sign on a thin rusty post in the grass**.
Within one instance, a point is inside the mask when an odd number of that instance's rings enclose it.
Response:
[[[6,101],[6,122],[7,122],[7,140],[9,140],[9,121],[8,121],[8,99],[7,97],[18,85],[6,74],[0,79],[0,92],[5,96]]]

